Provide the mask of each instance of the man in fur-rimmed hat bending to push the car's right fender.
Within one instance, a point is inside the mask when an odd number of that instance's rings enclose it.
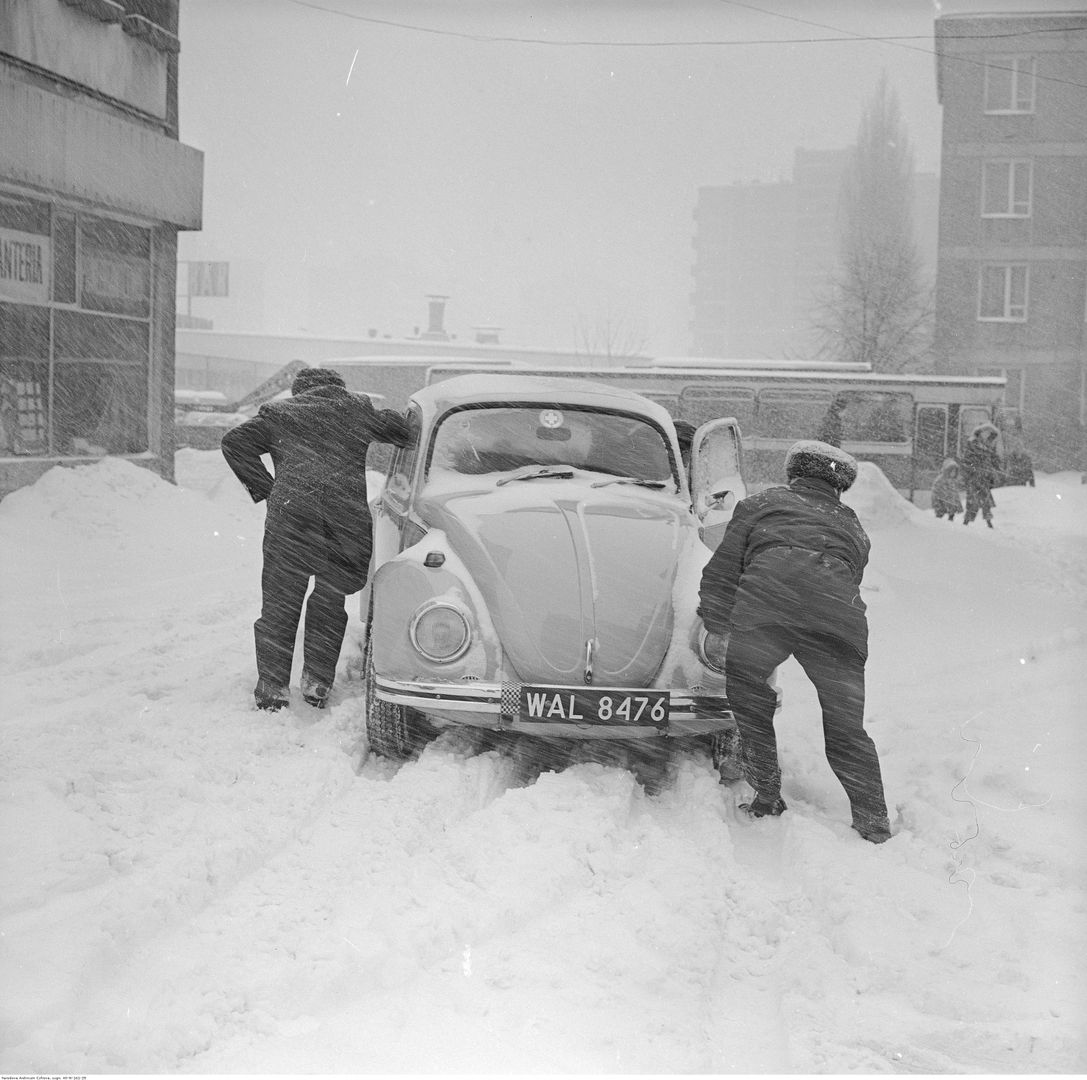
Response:
[[[786,808],[776,695],[767,679],[792,655],[819,693],[826,758],[849,796],[853,828],[883,843],[890,838],[887,803],[864,730],[869,627],[860,585],[870,542],[839,498],[857,478],[857,462],[837,447],[805,440],[789,450],[785,470],[788,487],[736,505],[699,588],[707,653],[725,654],[745,779],[755,792],[744,808],[753,817]]]

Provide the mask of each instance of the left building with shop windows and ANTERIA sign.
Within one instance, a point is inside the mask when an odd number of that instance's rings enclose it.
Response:
[[[58,463],[173,477],[177,0],[0,3],[0,494]]]

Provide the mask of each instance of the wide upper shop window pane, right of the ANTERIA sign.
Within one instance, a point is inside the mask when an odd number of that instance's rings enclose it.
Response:
[[[83,307],[140,318],[150,315],[149,229],[80,215],[79,268]]]

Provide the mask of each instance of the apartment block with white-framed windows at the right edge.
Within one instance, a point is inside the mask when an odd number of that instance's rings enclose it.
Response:
[[[938,369],[1004,375],[1042,468],[1082,467],[1087,11],[936,20]]]

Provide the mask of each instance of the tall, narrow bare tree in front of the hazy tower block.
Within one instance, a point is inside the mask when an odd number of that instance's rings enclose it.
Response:
[[[913,239],[913,151],[884,74],[842,181],[841,253],[819,303],[819,351],[875,372],[928,364],[932,289]]]

